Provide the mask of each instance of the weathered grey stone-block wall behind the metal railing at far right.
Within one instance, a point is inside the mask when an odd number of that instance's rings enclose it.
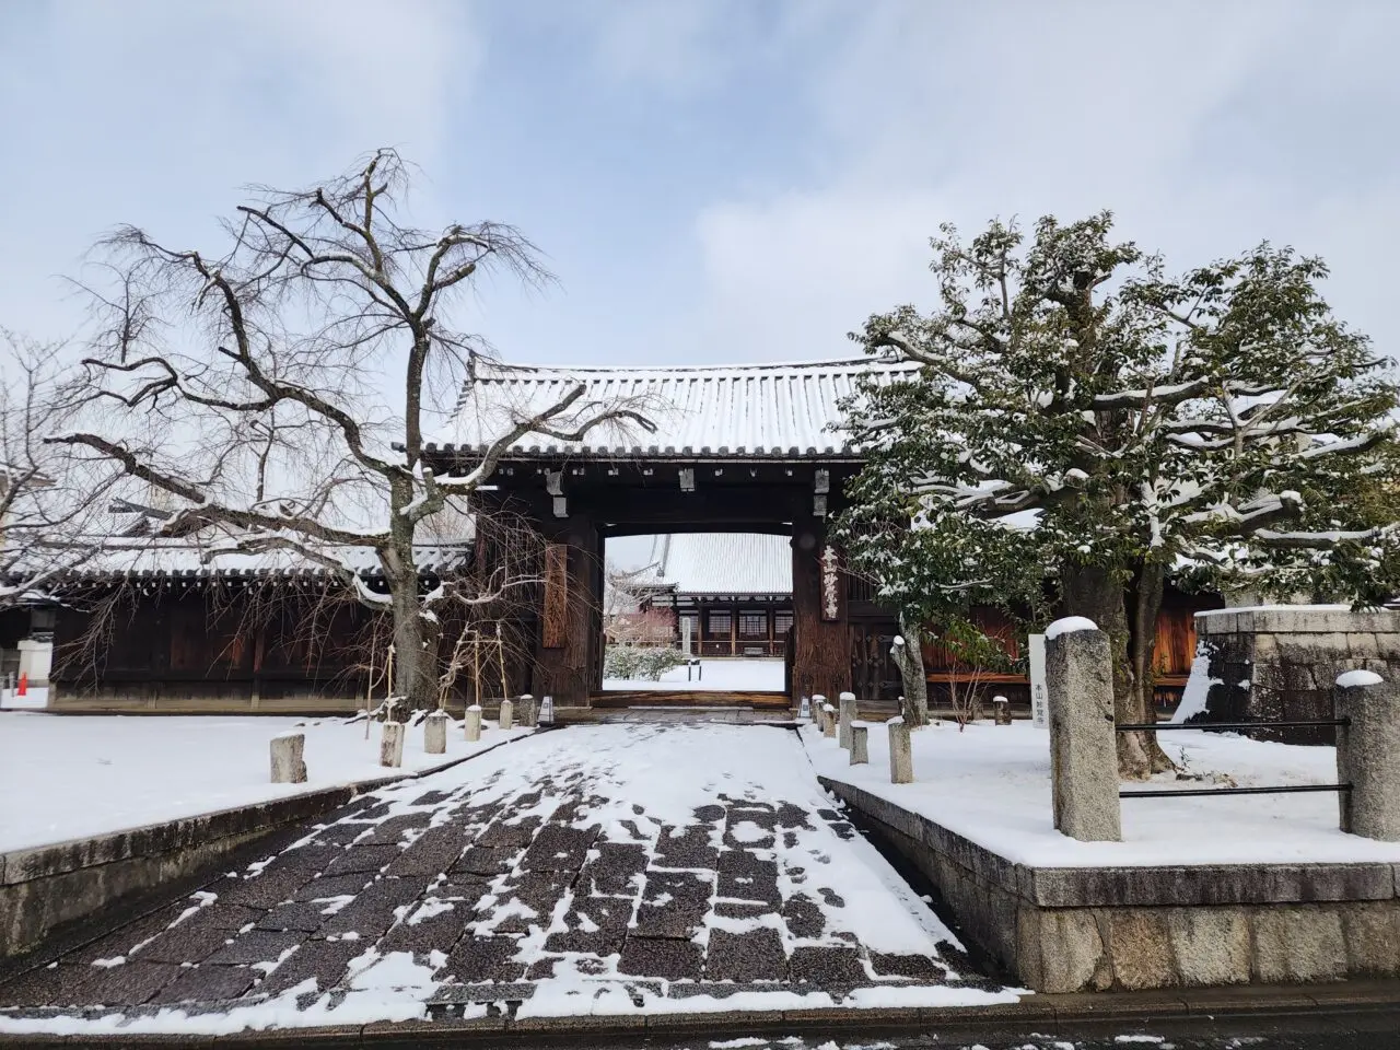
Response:
[[[1205,710],[1191,721],[1247,722],[1331,718],[1331,690],[1344,671],[1400,675],[1400,613],[1344,606],[1261,606],[1196,615],[1208,661]],[[1333,743],[1331,728],[1257,729],[1257,739]]]

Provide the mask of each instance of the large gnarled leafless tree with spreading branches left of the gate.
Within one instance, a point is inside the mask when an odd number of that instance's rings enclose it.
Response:
[[[503,407],[469,468],[434,473],[426,428],[487,350],[454,326],[455,308],[490,272],[547,274],[512,227],[410,225],[409,176],[379,150],[304,190],[253,188],[214,253],[116,230],[84,286],[98,319],[83,361],[90,421],[53,441],[175,497],[165,532],[213,528],[225,550],[290,549],[337,573],[392,615],[395,693],[428,707],[440,610],[491,606],[535,580],[487,573],[423,588],[428,522],[479,521],[473,496],[526,434],[577,441],[599,424],[652,424],[630,402],[585,400],[578,384],[550,405]],[[356,549],[374,552],[386,594],[343,557]]]

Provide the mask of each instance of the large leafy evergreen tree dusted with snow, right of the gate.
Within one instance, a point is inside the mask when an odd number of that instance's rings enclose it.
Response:
[[[1261,244],[1168,277],[1107,213],[931,245],[939,307],[851,336],[920,365],[848,406],[869,459],[839,522],[903,616],[1047,594],[1109,633],[1117,720],[1141,722],[1169,574],[1394,592],[1397,386],[1323,300],[1322,260]],[[1120,734],[1119,760],[1170,767],[1151,734]]]

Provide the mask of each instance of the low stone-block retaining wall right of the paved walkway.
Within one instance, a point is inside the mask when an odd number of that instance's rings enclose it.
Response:
[[[829,777],[963,938],[1044,993],[1400,976],[1400,864],[1033,868]]]

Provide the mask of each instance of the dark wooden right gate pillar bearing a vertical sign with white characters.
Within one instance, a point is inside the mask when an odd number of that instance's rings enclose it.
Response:
[[[851,689],[846,577],[818,518],[792,522],[792,701]]]

